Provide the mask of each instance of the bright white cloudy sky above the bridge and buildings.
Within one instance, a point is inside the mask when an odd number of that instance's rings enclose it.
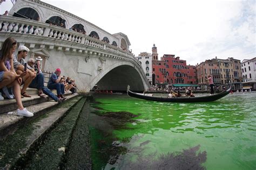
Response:
[[[159,56],[175,54],[187,64],[206,59],[256,56],[256,0],[44,0],[109,33],[122,32],[130,49]],[[0,12],[11,8],[10,0]],[[160,58],[160,57],[159,57]]]

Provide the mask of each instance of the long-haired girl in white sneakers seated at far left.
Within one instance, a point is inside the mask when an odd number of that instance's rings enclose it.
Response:
[[[28,73],[22,72],[18,75],[14,70],[14,55],[12,54],[15,52],[16,47],[17,41],[14,38],[9,37],[3,42],[0,51],[0,89],[2,89],[7,95],[12,96],[12,94],[9,94],[7,88],[13,87],[14,97],[18,105],[17,115],[31,117],[33,116],[33,113],[23,107],[21,100],[21,88],[19,86],[22,82],[22,77]]]

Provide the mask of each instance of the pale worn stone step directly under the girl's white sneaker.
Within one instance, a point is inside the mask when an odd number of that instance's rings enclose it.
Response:
[[[67,100],[76,96],[78,96],[78,94],[69,95],[67,96]],[[25,100],[27,100],[27,98],[25,98]],[[43,99],[39,97],[38,100],[43,100]],[[6,112],[4,114],[0,114],[0,140],[4,139],[8,134],[14,132],[19,125],[29,122],[37,118],[38,116],[41,116],[46,111],[49,111],[54,107],[57,107],[57,105],[59,104],[58,102],[55,102],[53,100],[51,101],[43,100],[41,103],[36,102],[35,104],[32,104],[34,101],[33,99],[29,101],[30,101],[30,105],[26,107],[26,109],[33,112],[34,114],[33,117],[17,116],[17,109],[12,110],[11,112],[9,112],[9,114]],[[65,102],[61,104],[64,104]]]

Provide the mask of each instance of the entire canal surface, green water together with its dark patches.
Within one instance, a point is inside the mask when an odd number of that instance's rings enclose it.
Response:
[[[255,169],[256,93],[161,103],[95,95],[93,169]]]

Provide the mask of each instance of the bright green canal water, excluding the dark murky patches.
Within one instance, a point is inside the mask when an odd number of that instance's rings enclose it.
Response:
[[[161,103],[127,95],[97,95],[95,100],[99,103],[92,107],[127,111],[138,117],[133,118],[135,122],[127,123],[126,129],[112,131],[113,138],[125,148],[114,163],[104,162],[105,153],[97,151],[97,145],[92,146],[94,167],[129,169],[126,164],[131,162],[140,160],[146,164],[161,155],[199,145],[197,153],[207,154],[201,164],[206,169],[255,169],[255,98],[256,93],[229,94],[208,103]],[[97,138],[95,143],[106,138],[97,128],[91,130],[92,138]]]

